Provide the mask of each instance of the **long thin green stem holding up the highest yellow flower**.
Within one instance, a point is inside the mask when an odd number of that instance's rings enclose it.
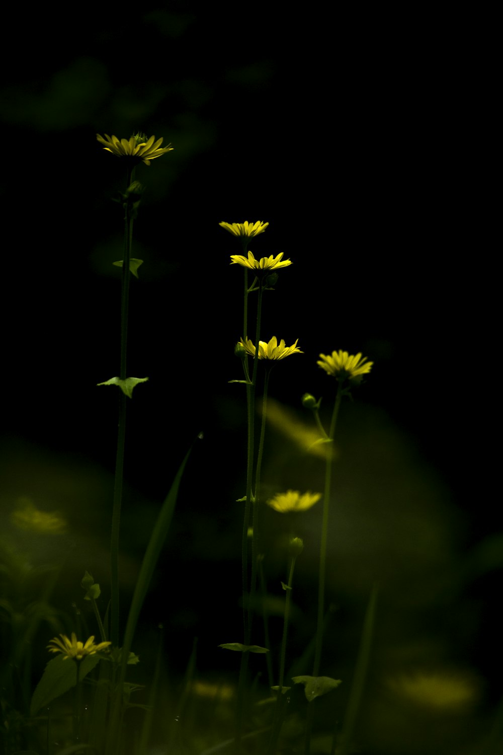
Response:
[[[133,169],[127,168],[126,189],[130,186]],[[121,278],[121,380],[125,380],[127,354],[127,313],[129,308],[129,262],[131,256],[131,241],[133,238],[133,207],[130,202],[124,202],[124,256],[122,260]],[[115,482],[112,510],[112,538],[110,543],[110,572],[112,599],[110,607],[110,639],[112,646],[118,647],[119,636],[119,580],[118,580],[118,550],[119,532],[121,527],[122,480],[124,476],[124,445],[126,437],[126,396],[120,391],[117,454],[115,456]]]

